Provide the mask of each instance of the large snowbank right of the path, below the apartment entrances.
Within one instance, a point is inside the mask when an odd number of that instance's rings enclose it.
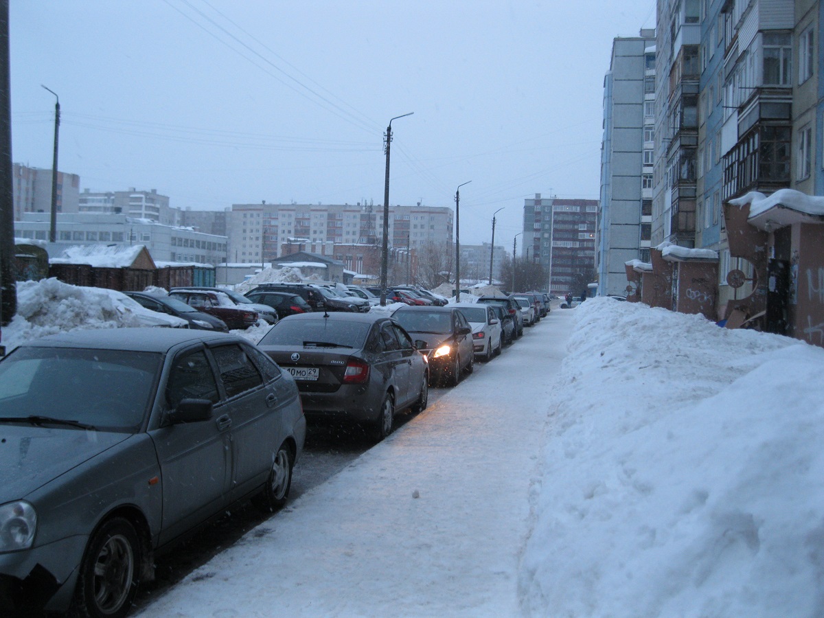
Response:
[[[600,298],[574,319],[523,611],[821,616],[824,350]]]

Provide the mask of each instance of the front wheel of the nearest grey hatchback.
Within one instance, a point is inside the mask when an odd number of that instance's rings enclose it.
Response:
[[[119,618],[132,609],[138,592],[143,547],[129,520],[112,517],[91,536],[77,575],[77,616]]]

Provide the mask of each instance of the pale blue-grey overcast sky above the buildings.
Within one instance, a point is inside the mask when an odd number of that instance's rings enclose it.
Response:
[[[597,199],[612,39],[653,0],[12,0],[12,157],[177,208],[454,207],[512,246],[523,200]],[[520,238],[518,245],[520,246]]]

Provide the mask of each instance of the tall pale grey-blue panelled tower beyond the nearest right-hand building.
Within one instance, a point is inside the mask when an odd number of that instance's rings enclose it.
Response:
[[[601,294],[623,294],[625,263],[649,260],[655,130],[655,30],[616,38],[604,77],[597,270]]]

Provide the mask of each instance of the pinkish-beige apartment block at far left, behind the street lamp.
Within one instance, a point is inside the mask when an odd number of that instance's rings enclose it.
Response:
[[[55,208],[58,213],[77,213],[80,192],[80,176],[57,173],[57,200]],[[23,213],[51,213],[52,171],[39,167],[29,167],[14,163],[12,165],[12,199],[14,218],[19,219]]]

